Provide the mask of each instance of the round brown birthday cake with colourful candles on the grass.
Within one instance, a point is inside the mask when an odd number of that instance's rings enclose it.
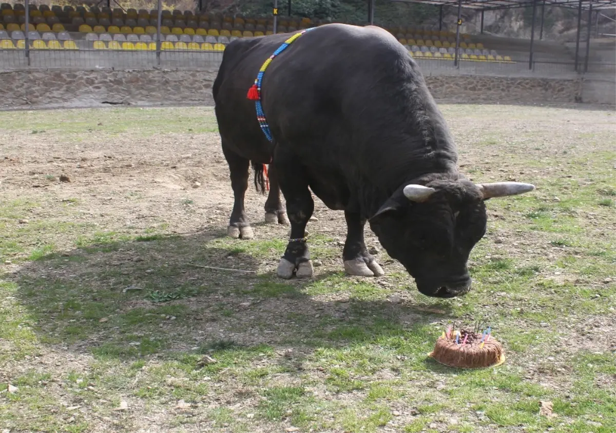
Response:
[[[452,330],[450,326],[429,354],[434,360],[450,367],[484,368],[505,362],[503,346],[492,337],[492,330]]]

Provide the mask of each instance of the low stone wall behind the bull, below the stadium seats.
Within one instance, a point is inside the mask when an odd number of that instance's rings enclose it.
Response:
[[[10,71],[0,73],[0,108],[213,105],[216,70]],[[435,75],[444,102],[542,103],[580,100],[580,79]]]

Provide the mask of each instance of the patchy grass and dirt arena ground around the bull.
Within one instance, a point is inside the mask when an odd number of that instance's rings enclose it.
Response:
[[[610,113],[442,109],[474,180],[515,176],[538,187],[487,203],[488,232],[469,260],[474,288],[450,300],[419,294],[384,251],[376,255],[386,277],[345,276],[344,217],[318,202],[309,241],[322,265],[310,280],[280,280],[287,229],[258,223],[264,198],[249,193],[256,237],[241,241],[223,235],[228,184],[145,187],[142,179],[180,171],[180,155],[194,152],[219,158],[204,165],[227,176],[211,109],[0,113],[0,132],[57,140],[59,156],[88,134],[101,145],[145,137],[156,155],[140,180],[116,172],[118,184],[98,179],[96,190],[85,174],[66,192],[4,187],[0,426],[136,431],[148,418],[164,431],[616,431],[616,153],[597,131]],[[490,124],[489,134],[477,124]],[[593,145],[580,147],[573,129],[585,127]],[[174,155],[160,134],[179,137]],[[212,144],[182,144],[193,134]],[[134,157],[114,148],[118,160]],[[37,169],[38,182],[58,182],[59,169]],[[185,173],[205,176],[196,166]],[[113,196],[113,212],[92,211],[100,196]],[[445,326],[477,321],[505,344],[504,365],[453,370],[426,356]],[[541,401],[556,416],[540,415]],[[128,411],[116,410],[121,402]]]

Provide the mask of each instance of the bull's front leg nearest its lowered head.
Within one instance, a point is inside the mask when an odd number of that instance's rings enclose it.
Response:
[[[366,220],[359,213],[344,211],[347,222],[347,238],[342,249],[344,270],[349,275],[359,277],[381,277],[385,275],[376,259],[368,254],[366,243],[363,240],[363,226]]]

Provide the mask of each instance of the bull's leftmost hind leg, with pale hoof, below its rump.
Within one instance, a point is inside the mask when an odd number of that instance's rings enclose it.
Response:
[[[227,235],[232,238],[251,239],[254,236],[244,209],[244,195],[248,188],[248,166],[250,161],[222,146],[222,153],[229,164],[231,188],[233,188],[233,211],[229,219]]]

